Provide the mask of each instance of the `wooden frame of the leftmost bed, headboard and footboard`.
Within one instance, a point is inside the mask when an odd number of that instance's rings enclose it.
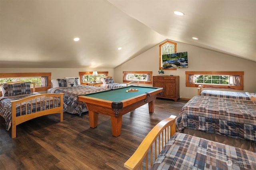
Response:
[[[8,82],[8,83],[0,84],[0,86],[2,86],[4,84],[14,84],[14,83],[22,83],[22,82]],[[32,82],[31,84],[33,84],[32,92],[34,92],[35,91],[35,83]],[[20,107],[21,107],[21,104],[23,102],[25,102],[26,106],[31,105],[31,107],[32,107],[31,101],[36,98],[45,98],[45,100],[46,100],[46,98],[48,98],[48,99],[51,99],[52,101],[55,101],[58,98],[60,100],[60,106],[54,106],[54,105],[52,106],[51,105],[52,108],[42,110],[42,107],[41,107],[42,103],[40,101],[37,103],[37,104],[40,104],[40,111],[36,110],[36,112],[27,114],[27,110],[26,110],[25,115],[20,115],[20,116],[16,117],[16,106],[17,105],[20,105]],[[43,115],[50,115],[50,114],[54,114],[54,113],[60,113],[60,122],[63,121],[63,93],[61,93],[61,94],[51,94],[51,93],[50,94],[35,94],[33,96],[28,96],[23,99],[14,100],[11,102],[12,102],[12,138],[16,137],[16,126],[17,125],[19,125],[20,123],[23,123],[25,121],[28,121],[30,119],[34,119],[36,117],[40,117]]]

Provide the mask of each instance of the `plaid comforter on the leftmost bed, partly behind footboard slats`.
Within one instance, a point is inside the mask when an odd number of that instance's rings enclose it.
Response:
[[[23,94],[23,95],[17,95],[17,96],[10,96],[10,97],[2,97],[0,98],[0,115],[4,117],[5,122],[6,122],[6,130],[8,131],[12,125],[12,103],[11,101],[13,100],[19,100],[28,96],[36,95],[39,93],[33,93],[33,94]],[[36,100],[37,100],[37,105],[36,105]],[[27,105],[27,113],[26,113],[26,105],[25,102],[22,103],[22,108],[21,108],[21,113],[20,113],[20,105],[16,106],[16,117],[20,115],[26,115],[30,113],[34,113],[36,111],[40,111],[40,103],[41,101],[41,111],[45,109],[52,108],[52,106],[56,107],[57,106],[57,101],[54,100],[54,104],[52,103],[52,100],[46,98],[46,102],[44,101],[45,98],[37,98],[36,100],[32,100],[32,107],[31,105]],[[60,100],[58,100],[58,106],[60,106]],[[28,104],[28,103],[27,103]],[[45,104],[45,105],[44,105]],[[63,111],[66,111],[67,106],[66,104],[63,104]]]

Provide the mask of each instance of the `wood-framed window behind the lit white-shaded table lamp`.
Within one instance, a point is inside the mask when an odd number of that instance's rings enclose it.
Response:
[[[99,82],[101,77],[108,76],[108,71],[97,71],[98,76],[96,77],[96,81]],[[94,81],[94,75],[92,75],[92,71],[87,72],[79,72],[81,84],[86,84],[86,82]]]

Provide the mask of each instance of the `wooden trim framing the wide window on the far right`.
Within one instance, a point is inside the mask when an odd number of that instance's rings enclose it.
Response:
[[[240,86],[230,86],[230,85],[217,85],[217,84],[195,84],[188,83],[188,75],[239,75],[240,76]],[[218,88],[218,89],[229,89],[229,90],[244,90],[244,72],[243,71],[186,71],[186,87],[198,87],[198,85],[203,85],[204,88]]]

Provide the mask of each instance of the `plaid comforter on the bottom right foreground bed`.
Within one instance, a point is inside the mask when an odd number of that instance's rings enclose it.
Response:
[[[151,170],[255,170],[256,153],[175,133],[158,155]]]

